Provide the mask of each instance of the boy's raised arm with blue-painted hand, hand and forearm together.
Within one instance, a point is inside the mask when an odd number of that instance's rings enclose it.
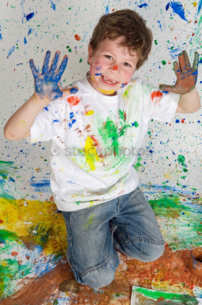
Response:
[[[77,87],[64,89],[61,87],[61,76],[67,66],[68,56],[65,55],[57,69],[60,52],[56,51],[50,69],[50,51],[46,52],[42,73],[36,69],[33,59],[30,68],[34,77],[34,94],[13,115],[4,126],[4,136],[9,140],[19,140],[30,136],[32,126],[38,113],[50,102],[78,91]],[[57,69],[57,70],[56,70]]]

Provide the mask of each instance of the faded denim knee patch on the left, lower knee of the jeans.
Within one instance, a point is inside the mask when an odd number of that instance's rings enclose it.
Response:
[[[78,281],[78,277],[75,278],[77,282],[80,282],[80,284],[87,285],[94,289],[99,289],[109,285],[113,281],[118,265],[118,255],[110,255],[102,264],[85,270],[80,275],[82,282]]]

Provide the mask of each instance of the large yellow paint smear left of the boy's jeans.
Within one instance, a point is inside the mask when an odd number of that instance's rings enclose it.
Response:
[[[0,198],[0,219],[3,221],[1,228],[15,232],[19,236],[19,244],[25,243],[35,247],[36,241],[43,238],[40,234],[36,238],[33,233],[40,225],[48,234],[44,253],[63,253],[67,247],[66,227],[62,215],[54,213],[56,205],[53,202],[38,200],[26,200],[26,205],[24,203],[24,199]]]

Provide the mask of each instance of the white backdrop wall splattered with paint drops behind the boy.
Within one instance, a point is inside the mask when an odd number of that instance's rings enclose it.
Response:
[[[99,17],[129,8],[147,21],[154,36],[149,60],[135,76],[154,85],[173,84],[176,78],[172,64],[179,52],[185,49],[193,63],[194,51],[201,52],[202,0],[145,1],[9,0],[0,3],[1,196],[44,201],[51,195],[50,143],[30,145],[26,139],[9,141],[3,135],[6,121],[33,94],[30,58],[41,69],[46,50],[50,50],[52,56],[60,50],[61,58],[64,54],[69,56],[62,76],[63,86],[81,78],[89,70],[87,47]],[[197,89],[200,97],[201,76],[199,64]],[[136,166],[140,182],[155,185],[155,190],[170,186],[200,193],[201,125],[201,109],[194,114],[176,114],[170,124],[151,122],[141,154],[146,148],[152,153],[139,156]],[[177,160],[179,155],[185,157],[187,172]]]

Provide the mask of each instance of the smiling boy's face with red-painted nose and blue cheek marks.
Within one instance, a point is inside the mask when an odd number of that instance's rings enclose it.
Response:
[[[89,46],[88,61],[91,65],[89,83],[94,89],[104,95],[115,95],[116,90],[123,88],[131,81],[136,70],[138,58],[135,52],[118,46],[124,37],[116,40],[106,38],[103,40],[97,51]]]

